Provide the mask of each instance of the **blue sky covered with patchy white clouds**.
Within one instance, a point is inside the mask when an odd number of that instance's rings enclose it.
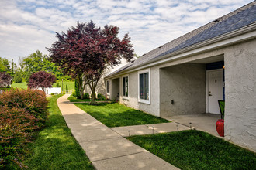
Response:
[[[247,0],[0,0],[0,57],[40,50],[77,22],[119,27],[138,56],[234,11]]]

